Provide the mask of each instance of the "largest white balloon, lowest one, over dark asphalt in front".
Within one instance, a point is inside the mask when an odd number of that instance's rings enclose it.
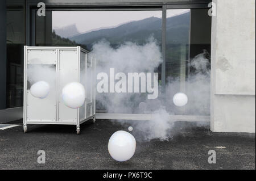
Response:
[[[136,140],[126,131],[117,131],[109,139],[109,154],[118,162],[124,162],[133,157]]]

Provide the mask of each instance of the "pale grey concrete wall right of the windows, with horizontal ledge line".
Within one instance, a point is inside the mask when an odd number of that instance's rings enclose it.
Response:
[[[255,0],[214,0],[211,130],[255,133]]]

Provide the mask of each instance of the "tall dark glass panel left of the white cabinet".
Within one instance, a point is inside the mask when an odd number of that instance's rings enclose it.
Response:
[[[23,46],[26,44],[25,1],[7,1],[6,108],[23,106]]]

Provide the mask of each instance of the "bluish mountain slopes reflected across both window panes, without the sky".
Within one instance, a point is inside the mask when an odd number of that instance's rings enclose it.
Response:
[[[166,77],[177,78],[180,75],[180,60],[188,60],[189,43],[189,12],[167,18],[166,23]],[[118,27],[105,28],[76,35],[75,25],[52,33],[52,44],[56,46],[77,46],[90,50],[93,43],[106,39],[113,47],[118,47],[125,41],[143,44],[148,37],[153,36],[159,43],[162,41],[162,19],[146,18],[135,22],[121,24]],[[57,34],[57,35],[56,35]],[[73,34],[76,36],[65,38]],[[61,37],[62,36],[62,37]],[[181,56],[184,56],[182,58]],[[158,72],[161,72],[160,66]]]

